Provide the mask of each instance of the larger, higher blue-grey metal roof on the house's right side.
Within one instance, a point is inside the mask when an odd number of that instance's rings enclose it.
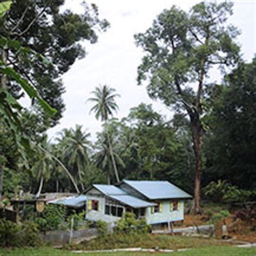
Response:
[[[190,194],[181,190],[168,181],[152,180],[124,180],[124,183],[133,187],[143,194],[146,198],[154,199],[171,199],[171,198],[192,198]]]

